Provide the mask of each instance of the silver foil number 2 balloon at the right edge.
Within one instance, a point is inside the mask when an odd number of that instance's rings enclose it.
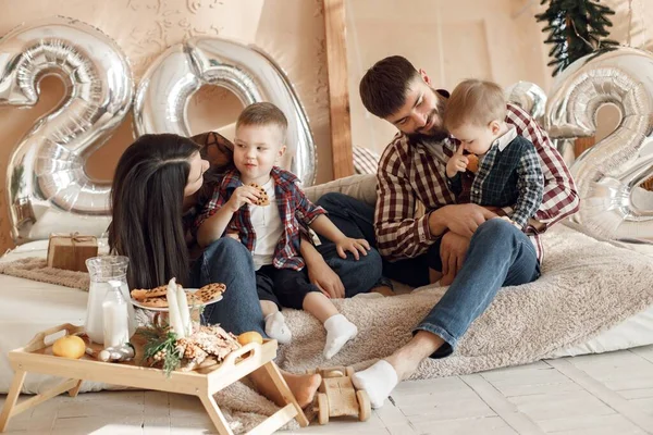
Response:
[[[606,103],[621,112],[614,133],[571,166],[579,196],[576,220],[597,235],[653,240],[653,206],[636,199],[653,175],[653,55],[621,48],[580,59],[554,85],[545,127],[554,138],[592,136]]]

